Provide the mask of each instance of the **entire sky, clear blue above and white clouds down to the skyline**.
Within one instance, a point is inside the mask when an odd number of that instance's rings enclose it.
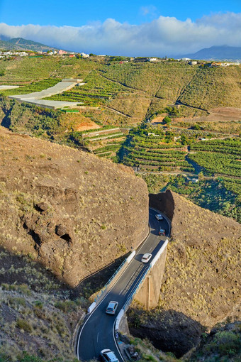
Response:
[[[241,47],[241,0],[0,0],[0,37],[134,56]]]

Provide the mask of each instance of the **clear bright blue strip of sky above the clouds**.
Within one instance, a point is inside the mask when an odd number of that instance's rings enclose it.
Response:
[[[0,22],[9,25],[82,26],[106,18],[140,24],[159,16],[195,21],[227,11],[241,12],[241,0],[0,0]]]

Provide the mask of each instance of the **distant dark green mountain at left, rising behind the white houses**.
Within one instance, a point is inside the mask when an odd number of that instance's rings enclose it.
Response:
[[[37,43],[32,40],[26,40],[23,38],[13,38],[10,40],[1,40],[0,35],[0,49],[6,50],[32,50],[35,52],[38,51],[47,51],[47,50],[57,50],[57,48],[49,47],[41,43]]]

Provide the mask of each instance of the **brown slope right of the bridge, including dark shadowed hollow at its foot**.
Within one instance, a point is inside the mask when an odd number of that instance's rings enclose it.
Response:
[[[151,194],[150,204],[172,220],[171,242],[159,307],[134,307],[130,333],[182,356],[205,329],[241,317],[241,227],[174,192]]]

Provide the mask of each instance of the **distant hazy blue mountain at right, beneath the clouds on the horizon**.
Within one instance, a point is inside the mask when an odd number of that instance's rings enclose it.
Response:
[[[241,47],[223,45],[219,47],[204,48],[194,54],[181,55],[191,59],[200,60],[241,60]]]

